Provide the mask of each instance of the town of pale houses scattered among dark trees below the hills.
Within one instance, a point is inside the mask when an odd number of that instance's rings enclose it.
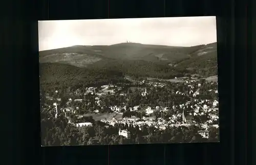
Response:
[[[126,80],[41,91],[42,144],[219,142],[218,80]]]

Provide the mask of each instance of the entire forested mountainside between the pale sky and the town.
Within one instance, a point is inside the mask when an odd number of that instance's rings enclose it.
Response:
[[[122,54],[125,49],[129,53]],[[155,56],[160,52],[165,53]],[[78,45],[39,52],[39,62],[40,84],[48,89],[123,82],[124,76],[172,79],[185,74],[218,74],[216,43],[187,48],[138,43]]]

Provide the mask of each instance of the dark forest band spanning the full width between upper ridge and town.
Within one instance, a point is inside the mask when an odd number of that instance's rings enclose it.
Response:
[[[173,79],[185,74],[199,74],[204,77],[217,75],[217,57],[210,60],[202,58],[204,57],[182,61],[177,67],[143,60],[102,60],[84,68],[61,63],[40,63],[40,83],[42,88],[79,87],[125,82],[125,76]],[[195,67],[187,69],[189,66]]]

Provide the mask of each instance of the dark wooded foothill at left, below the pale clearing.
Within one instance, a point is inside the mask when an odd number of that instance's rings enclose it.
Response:
[[[88,69],[60,63],[40,64],[40,87],[44,90],[125,82],[123,77],[121,72],[111,68]]]

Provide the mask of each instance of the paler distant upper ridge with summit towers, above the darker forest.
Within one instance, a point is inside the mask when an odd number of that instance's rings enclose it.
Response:
[[[75,45],[68,48],[39,52],[39,62],[60,62],[86,67],[100,60],[144,60],[174,63],[189,58],[207,45],[191,47],[119,43],[114,45]]]

